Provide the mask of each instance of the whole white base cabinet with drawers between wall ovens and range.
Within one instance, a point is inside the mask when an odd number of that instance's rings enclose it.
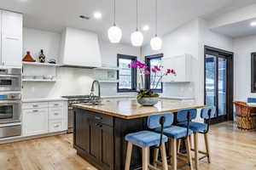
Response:
[[[25,103],[22,107],[23,136],[67,130],[67,101]]]

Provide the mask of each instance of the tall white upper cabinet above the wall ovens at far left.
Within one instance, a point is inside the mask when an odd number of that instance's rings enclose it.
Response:
[[[21,66],[22,14],[1,11],[1,65]]]

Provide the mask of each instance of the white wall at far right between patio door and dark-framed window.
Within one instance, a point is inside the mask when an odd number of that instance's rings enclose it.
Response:
[[[251,53],[256,52],[256,35],[234,39],[234,100],[256,98],[251,93]]]

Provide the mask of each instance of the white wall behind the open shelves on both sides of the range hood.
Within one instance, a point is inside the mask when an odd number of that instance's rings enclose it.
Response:
[[[61,34],[49,31],[39,31],[24,28],[23,54],[31,51],[38,59],[38,52],[44,49],[47,59],[58,59],[60,56]],[[117,65],[117,54],[131,54],[140,56],[140,48],[133,48],[126,44],[111,44],[100,41],[102,65]],[[90,69],[58,68],[57,82],[25,82],[23,99],[53,98],[61,95],[83,95],[90,93],[90,85],[94,79],[94,72]],[[132,93],[118,94],[115,83],[102,83],[102,96],[134,95]]]

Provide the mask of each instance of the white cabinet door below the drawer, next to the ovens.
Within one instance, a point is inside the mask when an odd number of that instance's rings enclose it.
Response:
[[[23,135],[48,133],[48,108],[23,110]]]

